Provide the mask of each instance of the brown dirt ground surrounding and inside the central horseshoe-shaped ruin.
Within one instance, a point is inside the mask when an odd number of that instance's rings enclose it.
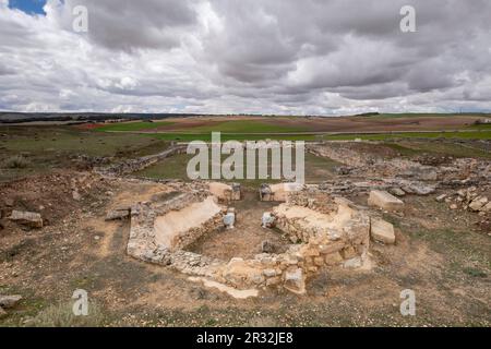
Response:
[[[52,185],[69,178],[85,183],[81,201],[74,201],[63,185]],[[52,309],[70,304],[80,288],[103,314],[91,325],[490,325],[490,238],[474,229],[470,213],[454,217],[434,197],[408,196],[404,216],[385,215],[396,227],[397,243],[372,244],[371,270],[323,270],[309,280],[304,297],[270,290],[259,298],[236,300],[177,272],[132,260],[125,254],[128,221],[104,220],[117,204],[145,201],[171,188],[95,176],[82,179],[84,173],[65,171],[39,177],[36,186],[44,184],[46,190],[38,192],[23,181],[2,186],[2,205],[8,198],[13,201],[8,204],[24,207],[22,198],[32,195],[34,205],[58,209],[41,230],[25,231],[2,220],[0,292],[24,299],[0,320],[1,325],[39,325],[49,310],[60,316]],[[238,203],[238,231],[217,232],[223,252],[216,256],[247,256],[258,252],[263,239],[280,239],[259,227],[259,213],[268,207],[252,197]],[[244,219],[249,216],[252,219]],[[201,249],[216,253],[220,241],[208,237]],[[399,313],[404,289],[416,292],[416,316]]]

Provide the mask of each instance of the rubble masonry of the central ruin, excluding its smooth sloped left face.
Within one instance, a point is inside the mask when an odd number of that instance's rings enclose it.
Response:
[[[314,197],[310,197],[313,193]],[[219,261],[184,251],[197,238],[223,227],[223,214],[188,229],[173,249],[156,239],[155,219],[170,210],[190,207],[207,197],[199,190],[164,203],[141,203],[131,208],[128,253],[136,258],[169,265],[188,275],[211,278],[238,289],[284,287],[296,293],[306,291],[306,280],[323,267],[360,267],[367,258],[370,219],[363,210],[315,191],[315,188],[289,192],[287,203],[273,210],[276,227],[292,244],[282,254],[258,254],[252,260]],[[302,206],[298,204],[302,204]]]

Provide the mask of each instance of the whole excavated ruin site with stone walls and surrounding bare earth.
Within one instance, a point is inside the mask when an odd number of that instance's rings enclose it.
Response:
[[[489,325],[490,143],[431,144],[308,142],[304,183],[190,180],[179,142],[49,159],[0,188],[0,321],[84,290],[87,325]]]

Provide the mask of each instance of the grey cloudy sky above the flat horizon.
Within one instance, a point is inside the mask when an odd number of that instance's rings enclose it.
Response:
[[[490,0],[0,0],[0,110],[491,111],[490,62]]]

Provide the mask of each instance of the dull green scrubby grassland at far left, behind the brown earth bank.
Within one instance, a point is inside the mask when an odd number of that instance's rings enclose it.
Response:
[[[155,154],[169,143],[140,134],[81,131],[70,127],[0,128],[0,181],[73,166],[77,155],[110,161]],[[19,163],[19,164],[16,164]]]

